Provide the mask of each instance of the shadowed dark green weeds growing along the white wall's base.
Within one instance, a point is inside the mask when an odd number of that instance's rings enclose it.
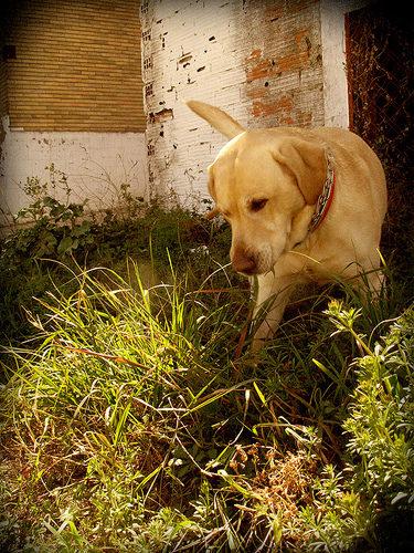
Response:
[[[28,178],[24,189],[31,201],[18,213],[19,225],[0,246],[2,341],[32,334],[25,311],[42,310],[33,298],[43,298],[50,286],[73,291],[64,265],[103,265],[125,274],[126,259],[131,257],[138,259],[142,273],[148,268],[153,281],[153,275],[168,279],[169,259],[173,257],[187,268],[188,279],[195,286],[210,271],[225,264],[226,229],[214,229],[217,240],[213,241],[212,225],[201,216],[179,206],[168,210],[161,199],[146,205],[142,198],[132,197],[127,181],[120,185],[116,210],[108,210],[104,218],[86,217],[87,202],[70,200],[66,176],[53,165],[49,170],[47,182]],[[235,276],[231,280],[237,282]]]

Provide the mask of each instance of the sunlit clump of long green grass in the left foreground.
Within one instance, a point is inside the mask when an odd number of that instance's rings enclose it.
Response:
[[[214,326],[221,314],[214,317],[211,306],[202,298],[193,301],[191,294],[185,295],[179,282],[148,291],[135,273],[137,291],[112,271],[104,272],[105,279],[95,279],[92,272],[73,274],[77,291],[44,303],[49,321],[33,321],[44,336],[43,344],[38,353],[15,351],[21,371],[7,386],[3,404],[3,416],[31,444],[22,451],[28,471],[19,491],[20,515],[33,521],[40,517],[30,498],[46,493],[43,526],[54,536],[52,542],[61,545],[62,540],[76,545],[77,534],[94,541],[96,533],[103,544],[118,543],[117,528],[144,528],[144,508],[147,521],[153,502],[164,502],[163,497],[174,501],[172,490],[190,476],[190,468],[182,471],[177,456],[202,463],[210,459],[204,453],[200,457],[188,432],[198,428],[201,439],[211,431],[200,415],[209,406],[203,400],[205,387],[222,379],[205,365],[209,351],[217,347]],[[26,369],[30,376],[24,376]],[[193,384],[185,389],[188,375],[193,375]],[[15,395],[19,388],[22,403]],[[213,396],[210,404],[214,400]],[[184,411],[187,422],[178,429],[177,416]],[[31,442],[34,436],[36,445]],[[68,493],[70,512],[65,508]],[[8,509],[12,502],[9,498]],[[93,514],[94,530],[87,526],[86,513]],[[178,513],[171,517],[182,520]],[[156,513],[144,532],[151,534],[149,544],[157,542],[152,533],[160,523]],[[163,525],[167,532],[166,521]],[[170,534],[168,529],[169,540]],[[135,543],[137,535],[124,538]]]

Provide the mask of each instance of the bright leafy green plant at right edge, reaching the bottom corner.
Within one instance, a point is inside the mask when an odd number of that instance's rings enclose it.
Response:
[[[309,510],[304,515],[330,544],[330,551],[358,550],[362,539],[364,551],[411,549],[414,310],[411,306],[394,320],[390,331],[374,343],[355,330],[361,310],[332,301],[326,313],[337,332],[353,337],[362,356],[352,363],[357,385],[342,424],[347,437],[344,471],[330,469],[329,478],[315,488],[323,503],[327,492],[333,493],[328,503],[331,509],[325,507],[319,518]],[[394,531],[396,521],[400,534]]]

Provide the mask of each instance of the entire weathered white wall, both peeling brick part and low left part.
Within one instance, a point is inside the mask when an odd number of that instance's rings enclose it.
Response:
[[[123,182],[136,196],[173,194],[199,207],[225,138],[185,106],[190,98],[251,127],[347,127],[344,13],[365,3],[141,0],[147,137],[10,131],[4,119],[1,210],[25,205],[22,185],[46,179],[51,163],[92,209],[116,205]]]

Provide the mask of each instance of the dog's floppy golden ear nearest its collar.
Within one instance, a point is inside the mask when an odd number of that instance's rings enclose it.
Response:
[[[305,201],[309,206],[316,204],[327,174],[323,146],[304,138],[288,137],[277,145],[273,156],[295,175]]]

